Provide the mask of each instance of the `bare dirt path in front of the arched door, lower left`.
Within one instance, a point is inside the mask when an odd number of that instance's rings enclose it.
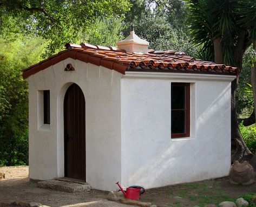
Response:
[[[29,181],[28,166],[2,167],[0,172],[5,173],[5,179],[0,180],[0,203],[37,202],[48,206],[63,207],[128,206],[108,201],[106,199],[108,192],[104,191],[92,190],[86,194],[70,194],[37,188],[36,182]]]

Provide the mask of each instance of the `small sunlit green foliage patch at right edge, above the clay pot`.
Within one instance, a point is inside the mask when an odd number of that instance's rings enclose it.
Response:
[[[246,146],[254,154],[256,151],[256,126],[245,127],[242,123],[239,126],[242,137],[246,143]]]

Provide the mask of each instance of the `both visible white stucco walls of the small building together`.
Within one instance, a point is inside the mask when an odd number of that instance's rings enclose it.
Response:
[[[71,63],[75,71],[64,71]],[[29,176],[64,176],[63,100],[74,82],[86,99],[87,182],[146,188],[228,174],[232,77],[127,72],[66,59],[28,78]],[[191,83],[191,137],[170,138],[170,84]],[[42,124],[42,90],[50,89],[50,125]]]

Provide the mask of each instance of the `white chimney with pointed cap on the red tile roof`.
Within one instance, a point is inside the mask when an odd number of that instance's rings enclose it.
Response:
[[[131,31],[129,36],[116,43],[117,48],[133,53],[148,53],[148,42],[139,38],[134,31]]]

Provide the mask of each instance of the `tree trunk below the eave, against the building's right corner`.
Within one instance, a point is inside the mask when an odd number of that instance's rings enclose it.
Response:
[[[251,160],[253,154],[250,149],[246,146],[242,135],[240,133],[238,120],[237,120],[237,111],[235,108],[235,94],[237,91],[237,82],[238,79],[235,79],[231,83],[231,141],[235,143],[235,153],[232,154],[231,161],[235,160]]]

